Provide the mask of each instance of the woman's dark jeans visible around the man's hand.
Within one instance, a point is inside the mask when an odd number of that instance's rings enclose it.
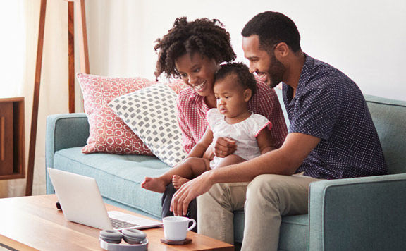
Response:
[[[164,195],[162,195],[162,218],[166,216],[173,216],[173,212],[171,212],[169,209],[171,209],[171,201],[172,197],[175,194],[177,190],[173,188],[172,183],[166,186],[166,190],[164,192]],[[194,219],[196,221],[196,226],[195,228],[192,229],[193,232],[197,233],[197,203],[196,199],[192,200],[189,204],[189,208],[187,209],[187,214],[185,215],[186,217],[190,219]]]

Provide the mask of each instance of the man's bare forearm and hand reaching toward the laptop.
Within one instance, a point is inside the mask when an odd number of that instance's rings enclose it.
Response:
[[[249,182],[261,174],[292,175],[319,142],[318,137],[289,133],[279,149],[240,164],[207,171],[180,187],[173,195],[171,211],[176,216],[187,214],[190,201],[216,183]]]

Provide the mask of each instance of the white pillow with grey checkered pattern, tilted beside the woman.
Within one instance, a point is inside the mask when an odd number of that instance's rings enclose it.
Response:
[[[186,157],[182,133],[176,120],[177,94],[156,84],[111,100],[109,106],[169,166]]]

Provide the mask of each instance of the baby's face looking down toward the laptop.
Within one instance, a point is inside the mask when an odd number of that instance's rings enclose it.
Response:
[[[247,98],[245,90],[235,75],[228,75],[214,83],[214,96],[217,100],[217,109],[227,118],[244,116],[247,111]]]

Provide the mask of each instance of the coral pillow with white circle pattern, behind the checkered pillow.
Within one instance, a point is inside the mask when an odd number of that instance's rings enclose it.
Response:
[[[112,99],[156,82],[146,78],[110,78],[84,73],[78,73],[77,78],[82,88],[85,113],[90,125],[90,135],[82,153],[153,155],[133,130],[114,114],[108,104]],[[178,80],[168,85],[177,93],[185,87],[183,82]]]

